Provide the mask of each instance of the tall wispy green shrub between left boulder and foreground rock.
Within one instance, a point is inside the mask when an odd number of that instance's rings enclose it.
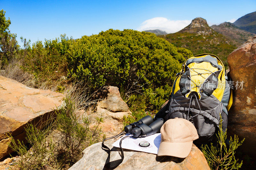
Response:
[[[60,151],[60,159],[64,164],[73,165],[82,156],[82,150],[85,145],[93,144],[99,141],[100,129],[99,124],[102,117],[96,117],[96,125],[93,129],[89,129],[91,120],[88,117],[79,117],[75,114],[76,105],[70,97],[64,99],[65,105],[57,113],[58,130],[64,137],[63,147]]]

